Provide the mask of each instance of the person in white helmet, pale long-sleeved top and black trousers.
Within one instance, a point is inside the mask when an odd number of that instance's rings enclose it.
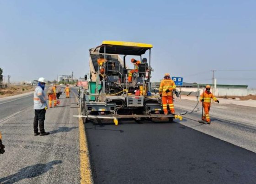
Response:
[[[34,92],[34,110],[35,110],[35,117],[34,117],[34,135],[48,135],[48,132],[44,130],[44,120],[45,120],[45,112],[47,109],[46,103],[46,95],[44,92],[45,87],[45,78],[40,77],[38,79],[38,86]],[[38,133],[38,124],[40,133]]]

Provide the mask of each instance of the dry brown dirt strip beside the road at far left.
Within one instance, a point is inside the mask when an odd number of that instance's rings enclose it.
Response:
[[[0,98],[32,92],[33,90],[34,87],[29,85],[13,85],[6,88],[0,88]]]

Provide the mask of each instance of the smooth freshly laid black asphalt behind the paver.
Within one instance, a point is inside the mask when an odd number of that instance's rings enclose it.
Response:
[[[179,123],[85,126],[96,184],[256,183],[256,153]]]

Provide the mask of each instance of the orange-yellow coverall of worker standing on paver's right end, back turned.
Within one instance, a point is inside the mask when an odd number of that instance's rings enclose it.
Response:
[[[165,92],[169,89],[170,92]],[[175,113],[174,105],[173,105],[173,96],[172,90],[176,89],[176,85],[171,79],[163,79],[160,83],[159,87],[159,94],[162,95],[162,104],[163,104],[163,111],[165,114],[168,114],[167,105],[171,110],[171,113]]]

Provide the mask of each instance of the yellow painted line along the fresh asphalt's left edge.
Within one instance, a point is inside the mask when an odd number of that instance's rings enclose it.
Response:
[[[73,92],[73,91],[72,91]],[[77,96],[73,92],[76,100]],[[80,114],[80,108],[78,110]],[[82,118],[79,118],[79,142],[80,142],[80,183],[81,184],[93,184],[91,174],[91,164],[89,158],[89,149],[87,144],[87,138],[85,134],[85,125]]]

